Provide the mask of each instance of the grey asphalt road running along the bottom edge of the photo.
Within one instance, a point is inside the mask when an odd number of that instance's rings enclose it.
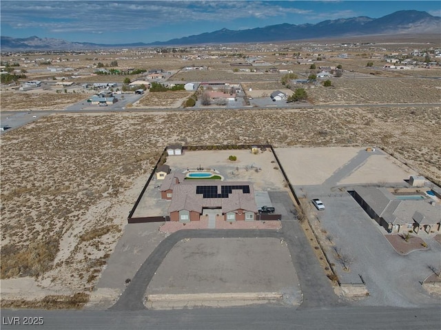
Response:
[[[25,325],[25,318],[43,318]],[[15,318],[15,319],[14,319]],[[20,324],[8,323],[16,320]],[[287,307],[235,307],[169,311],[1,311],[1,329],[350,329],[439,330],[440,306],[337,307],[296,310]]]

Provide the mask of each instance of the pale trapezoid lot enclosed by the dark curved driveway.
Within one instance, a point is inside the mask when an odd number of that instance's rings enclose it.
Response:
[[[181,240],[158,267],[146,294],[261,292],[282,293],[300,303],[296,270],[287,244],[278,238]]]

